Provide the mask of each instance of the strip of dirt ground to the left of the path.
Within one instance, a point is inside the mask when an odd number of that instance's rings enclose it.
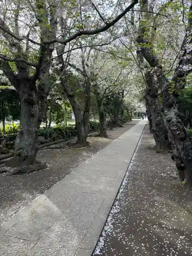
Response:
[[[108,131],[109,138],[89,137],[91,147],[39,150],[37,159],[46,162],[48,168],[28,175],[0,175],[0,225],[11,218],[18,210],[28,205],[56,182],[70,174],[73,169],[96,154],[106,145],[117,139],[134,126],[139,120],[124,124],[124,127]],[[54,145],[55,146],[55,145]]]

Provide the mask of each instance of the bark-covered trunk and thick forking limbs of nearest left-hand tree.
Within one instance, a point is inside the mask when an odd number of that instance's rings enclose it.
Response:
[[[50,90],[49,69],[51,61],[48,60],[51,59],[54,45],[45,45],[43,41],[56,36],[56,8],[54,4],[50,5],[49,15],[46,3],[39,2],[36,8],[36,19],[41,26],[39,26],[38,61],[33,75],[30,74],[27,63],[23,61],[15,62],[17,72],[11,69],[7,61],[3,61],[2,66],[4,74],[19,93],[21,101],[20,130],[15,140],[14,158],[10,161],[10,165],[32,165],[37,163],[37,132],[45,115],[47,96]],[[47,24],[50,24],[51,29],[47,27]],[[4,24],[4,26],[6,25]],[[9,46],[14,46],[16,49],[13,53],[14,57],[26,59],[25,50],[20,42],[15,41],[9,33],[4,33],[4,36],[9,42]]]

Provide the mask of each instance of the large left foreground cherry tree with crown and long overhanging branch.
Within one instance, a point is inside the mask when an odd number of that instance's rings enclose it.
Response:
[[[21,101],[20,130],[15,140],[14,158],[9,164],[21,165],[20,169],[33,164],[37,169],[43,168],[45,165],[36,161],[37,131],[45,114],[50,91],[49,72],[54,50],[59,45],[68,46],[81,36],[108,30],[138,0],[132,1],[122,12],[116,1],[112,5],[102,2],[103,5],[98,4],[98,7],[90,1],[6,0],[1,3],[0,31],[3,50],[0,54],[0,67],[18,91]],[[88,11],[91,15],[87,15]],[[105,22],[102,19],[104,14]],[[65,18],[70,18],[67,23],[68,34],[62,26]],[[94,19],[95,23],[90,27],[89,24]]]

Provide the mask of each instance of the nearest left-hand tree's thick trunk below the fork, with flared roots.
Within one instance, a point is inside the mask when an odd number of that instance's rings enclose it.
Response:
[[[14,156],[6,165],[17,167],[12,174],[42,169],[46,164],[36,160],[38,151],[39,100],[27,83],[20,84],[20,125],[15,139]]]

